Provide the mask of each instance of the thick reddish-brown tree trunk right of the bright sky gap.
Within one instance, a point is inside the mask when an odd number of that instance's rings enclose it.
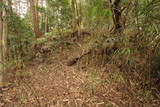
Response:
[[[32,21],[33,21],[33,26],[34,26],[34,33],[36,38],[41,37],[41,31],[39,27],[39,15],[38,15],[38,0],[29,0],[30,2],[30,7],[31,7],[31,12],[32,12]]]

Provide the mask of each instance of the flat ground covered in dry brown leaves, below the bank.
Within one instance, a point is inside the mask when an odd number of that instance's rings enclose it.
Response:
[[[62,63],[26,68],[30,76],[16,79],[1,95],[1,107],[152,107],[136,96],[121,73],[78,70]],[[154,107],[154,106],[153,106]]]

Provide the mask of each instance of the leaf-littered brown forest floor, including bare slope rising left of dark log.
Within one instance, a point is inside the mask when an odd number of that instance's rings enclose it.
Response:
[[[85,45],[87,42],[83,42]],[[114,64],[103,67],[66,63],[86,47],[58,47],[42,62],[16,71],[11,86],[0,94],[1,107],[158,107],[160,100],[138,83],[136,72]],[[63,48],[63,49],[62,49]],[[83,48],[84,49],[84,48]],[[22,75],[23,74],[23,75]]]

